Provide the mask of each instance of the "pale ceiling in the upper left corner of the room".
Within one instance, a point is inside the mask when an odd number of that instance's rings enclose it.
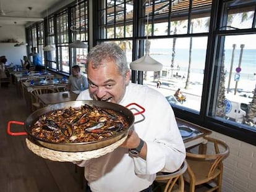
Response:
[[[74,1],[74,0],[72,0]],[[46,17],[46,10],[65,6],[71,0],[0,0],[0,26],[26,25]],[[49,11],[50,13],[50,11]]]

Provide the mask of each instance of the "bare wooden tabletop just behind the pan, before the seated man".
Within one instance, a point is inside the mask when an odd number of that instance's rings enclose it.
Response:
[[[62,91],[56,93],[39,94],[38,98],[43,105],[48,106],[49,104],[56,104],[59,102],[75,101],[78,95],[79,94],[72,91]]]

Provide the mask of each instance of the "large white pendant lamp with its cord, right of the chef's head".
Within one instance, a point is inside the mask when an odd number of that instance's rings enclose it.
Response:
[[[148,1],[148,6],[150,6],[150,1]],[[149,12],[147,13],[147,28],[148,28],[148,14]],[[130,69],[158,72],[163,68],[163,65],[160,64],[160,62],[156,61],[155,59],[149,56],[149,47],[150,47],[150,42],[148,41],[148,30],[147,30],[146,55],[131,62]]]

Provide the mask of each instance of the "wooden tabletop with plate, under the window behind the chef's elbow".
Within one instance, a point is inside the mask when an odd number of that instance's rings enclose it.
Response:
[[[205,143],[206,140],[203,137],[211,134],[210,130],[194,123],[187,122],[186,120],[176,118],[176,121],[178,127],[186,126],[192,130],[191,135],[182,137],[186,148],[190,148],[200,143]]]

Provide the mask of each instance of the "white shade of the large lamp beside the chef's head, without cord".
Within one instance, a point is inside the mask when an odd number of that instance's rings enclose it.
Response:
[[[162,68],[163,65],[148,54],[130,63],[132,70],[159,72]]]

